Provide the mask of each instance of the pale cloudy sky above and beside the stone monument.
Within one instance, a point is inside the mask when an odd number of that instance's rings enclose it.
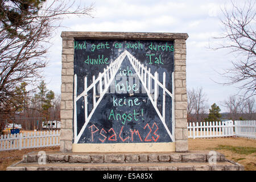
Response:
[[[222,86],[225,81],[217,72],[232,67],[234,59],[228,51],[214,51],[214,36],[221,35],[223,0],[84,0],[94,3],[94,18],[72,16],[63,20],[48,54],[49,65],[44,69],[48,89],[60,93],[61,31],[120,31],[120,32],[180,32],[187,33],[187,88],[203,88],[208,105],[220,106],[229,95],[237,94],[235,85]],[[222,112],[225,107],[220,106]]]

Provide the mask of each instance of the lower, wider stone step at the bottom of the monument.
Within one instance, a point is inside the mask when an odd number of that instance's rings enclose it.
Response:
[[[232,162],[209,163],[16,163],[7,171],[240,171]]]

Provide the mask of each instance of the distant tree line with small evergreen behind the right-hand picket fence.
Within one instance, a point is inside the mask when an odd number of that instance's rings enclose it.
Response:
[[[221,121],[221,119],[232,120],[255,120],[256,103],[254,97],[243,98],[237,95],[229,96],[221,102],[228,112],[221,114],[221,109],[215,103],[207,105],[207,95],[203,88],[188,89],[188,122]]]

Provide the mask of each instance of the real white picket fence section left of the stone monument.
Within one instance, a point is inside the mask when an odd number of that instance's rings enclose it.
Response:
[[[0,151],[23,148],[51,147],[60,145],[60,131],[34,131],[1,135]]]

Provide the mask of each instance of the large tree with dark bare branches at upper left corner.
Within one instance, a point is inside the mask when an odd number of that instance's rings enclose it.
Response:
[[[75,7],[75,0],[69,2],[0,0],[0,113],[15,111],[16,86],[40,78],[47,65],[49,39],[61,20],[92,13],[92,6]]]

